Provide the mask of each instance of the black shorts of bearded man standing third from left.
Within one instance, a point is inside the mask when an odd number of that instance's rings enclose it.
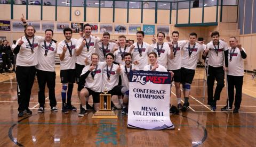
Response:
[[[75,83],[76,82],[76,70],[60,70],[60,82],[61,83]]]

